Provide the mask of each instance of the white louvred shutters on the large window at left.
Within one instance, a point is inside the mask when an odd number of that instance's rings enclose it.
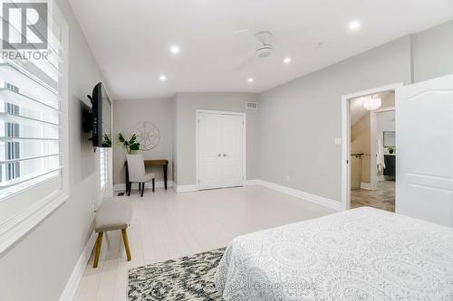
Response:
[[[10,36],[22,34],[14,17]],[[0,60],[0,201],[49,179],[62,187],[62,33],[52,14],[48,24],[47,58]]]

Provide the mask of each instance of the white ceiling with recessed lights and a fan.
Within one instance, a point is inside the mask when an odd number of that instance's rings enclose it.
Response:
[[[451,0],[71,0],[114,99],[262,92],[453,19]],[[352,33],[348,24],[361,21]],[[235,33],[247,30],[246,33]],[[275,52],[237,70],[274,33]],[[322,42],[323,46],[318,47]],[[172,55],[169,47],[181,52]],[[284,56],[291,64],[284,65]],[[167,80],[161,82],[159,75]],[[247,78],[255,81],[248,83]]]

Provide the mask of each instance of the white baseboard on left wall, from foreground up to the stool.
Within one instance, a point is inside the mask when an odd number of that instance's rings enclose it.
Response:
[[[94,244],[96,243],[96,233],[93,231],[90,239],[88,240],[85,248],[83,248],[82,254],[77,260],[74,269],[72,270],[71,277],[69,277],[68,282],[66,283],[66,287],[63,289],[63,293],[60,296],[60,301],[72,301],[77,293],[77,288],[79,287],[83,272],[85,271],[85,267],[90,260],[90,256],[92,255],[92,249],[94,248]]]

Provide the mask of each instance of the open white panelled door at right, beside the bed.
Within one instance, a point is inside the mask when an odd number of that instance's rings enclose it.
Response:
[[[453,226],[453,75],[396,90],[396,212]]]

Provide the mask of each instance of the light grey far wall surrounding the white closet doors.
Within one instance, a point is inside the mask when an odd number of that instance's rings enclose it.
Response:
[[[255,93],[178,93],[176,96],[176,155],[178,185],[196,184],[196,110],[212,109],[246,113],[246,177],[258,176],[258,110],[246,109],[258,101]]]

